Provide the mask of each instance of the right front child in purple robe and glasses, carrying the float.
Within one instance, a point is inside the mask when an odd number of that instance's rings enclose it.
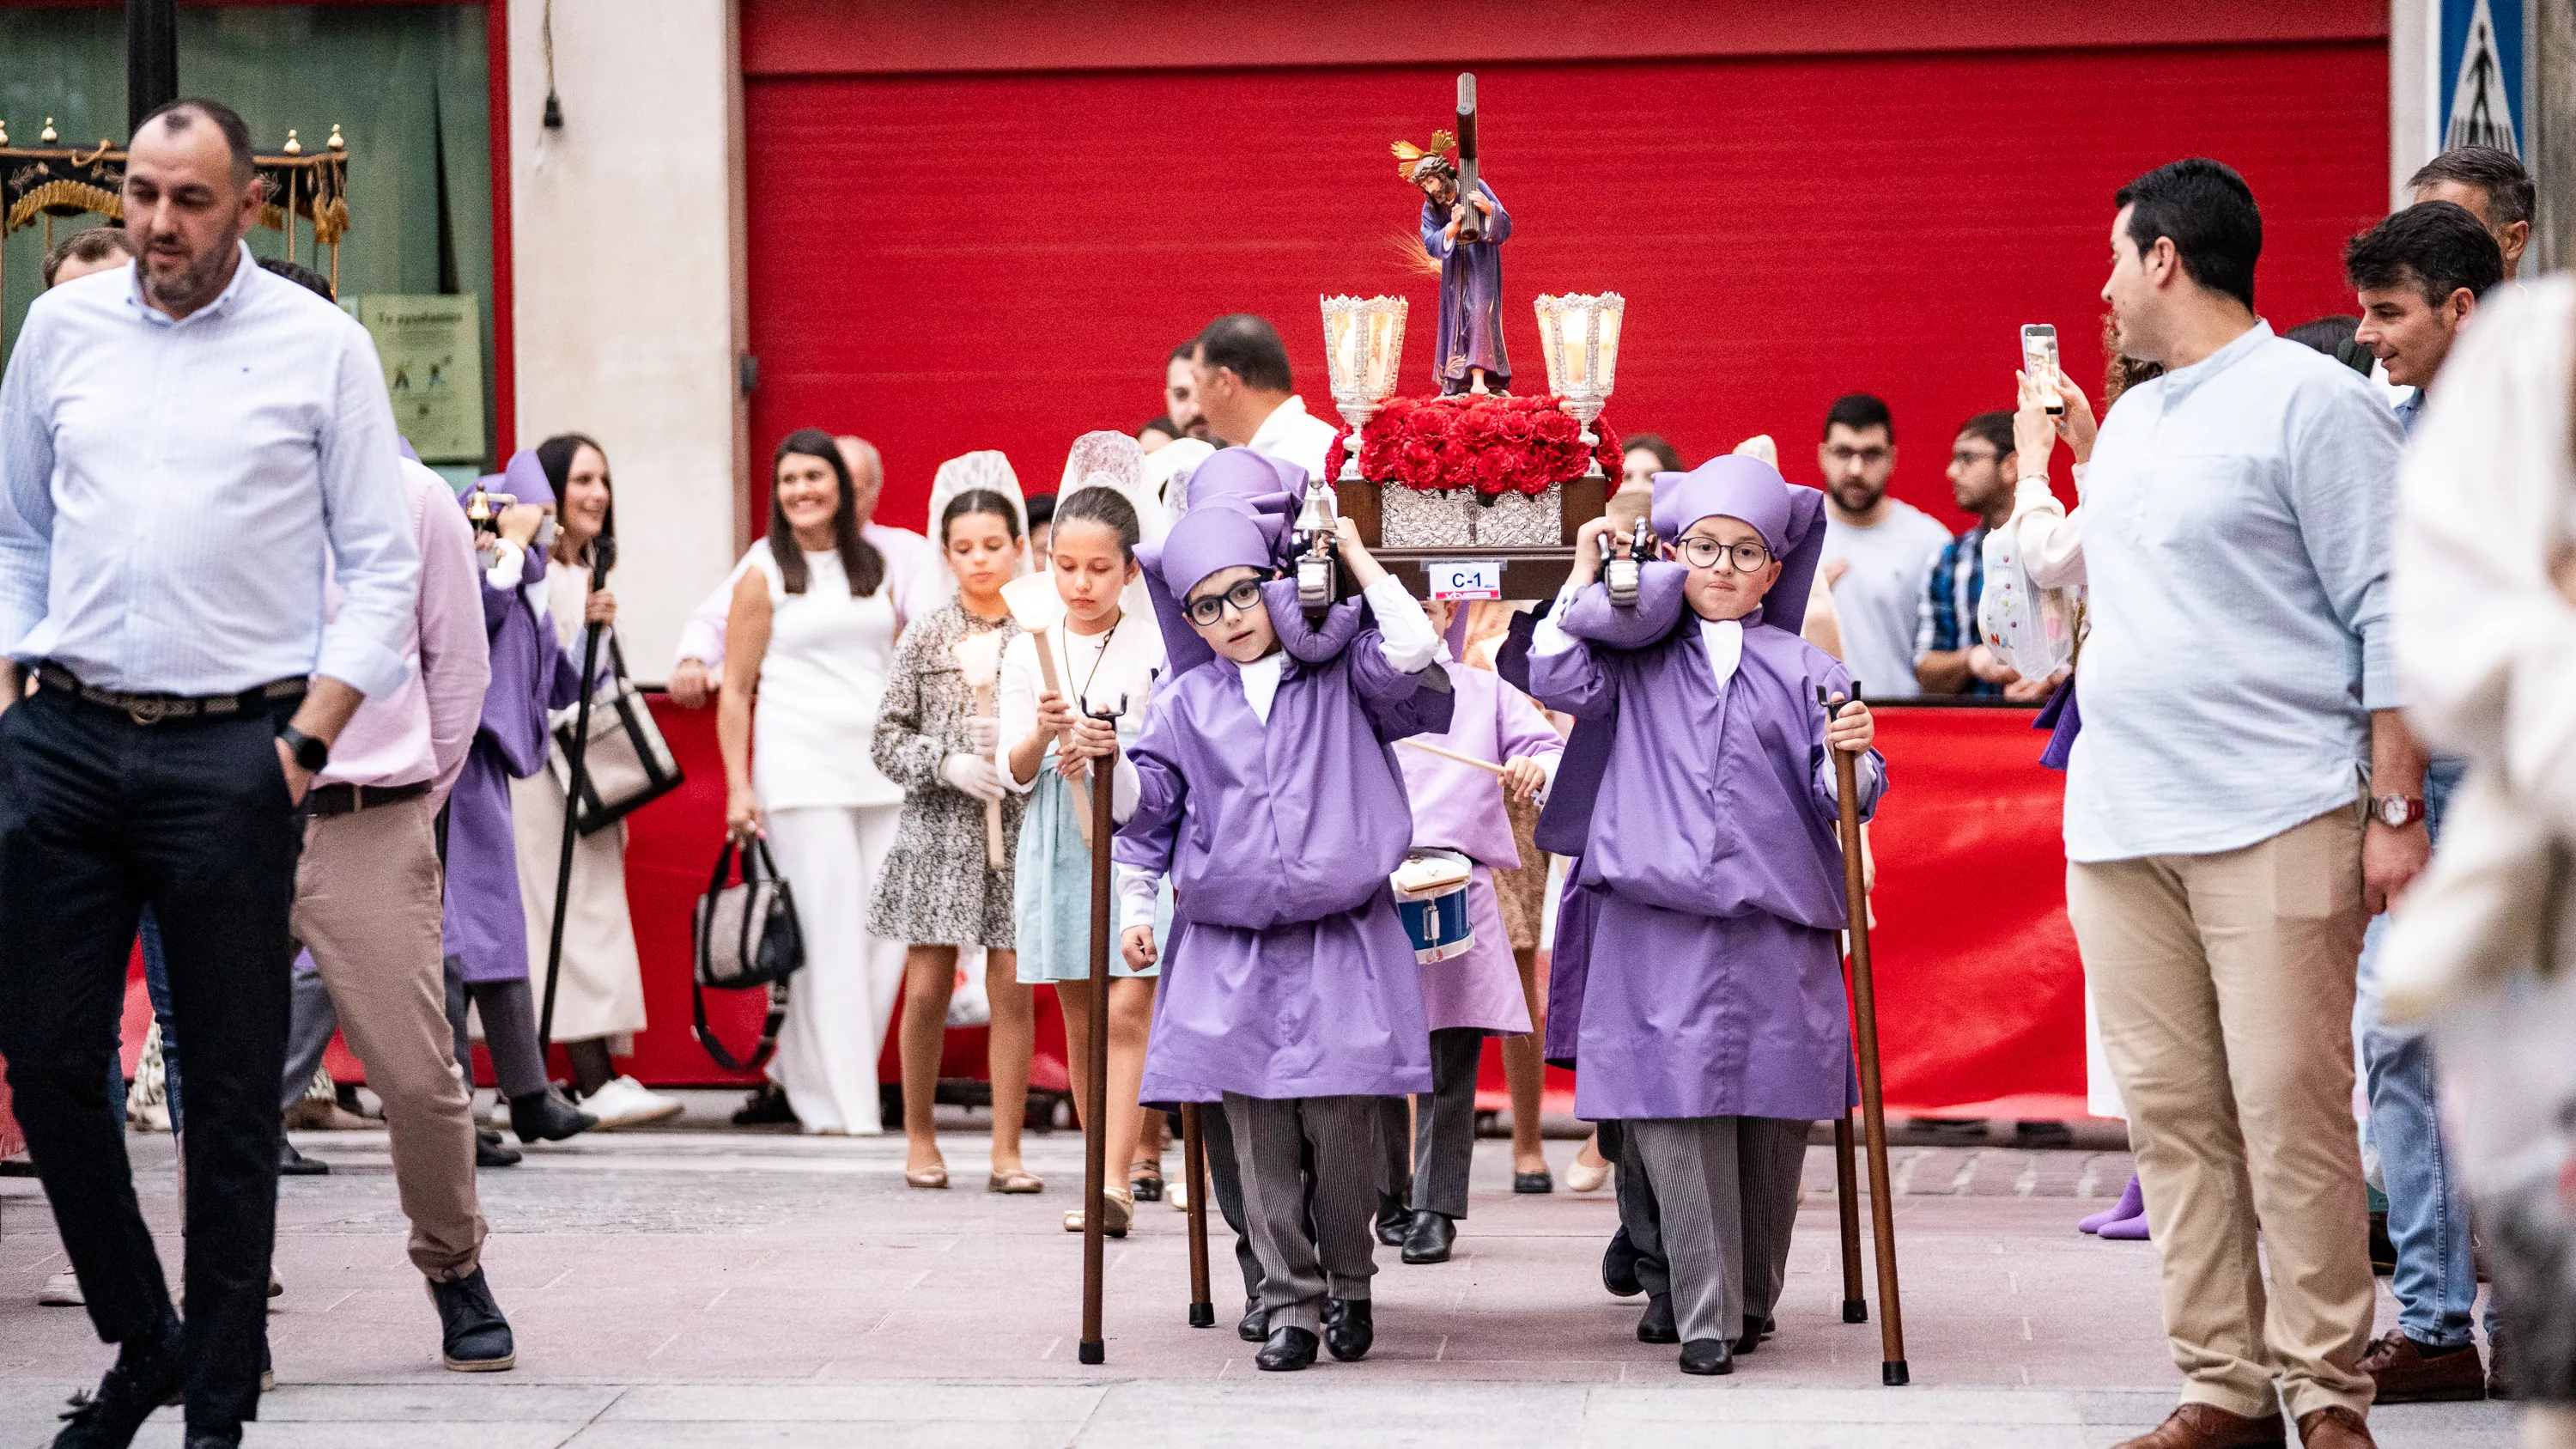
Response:
[[[1664,562],[1631,608],[1592,583],[1602,529],[1530,647],[1543,704],[1615,719],[1579,874],[1574,1109],[1620,1122],[1620,1173],[1656,1204],[1623,1222],[1651,1294],[1638,1338],[1726,1374],[1780,1292],[1808,1124],[1852,1104],[1826,750],[1862,755],[1862,815],[1886,763],[1865,706],[1826,719],[1819,686],[1839,701],[1850,676],[1798,637],[1821,492],[1749,456],[1656,474]]]

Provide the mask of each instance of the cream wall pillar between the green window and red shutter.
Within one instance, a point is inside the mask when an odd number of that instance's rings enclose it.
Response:
[[[639,678],[742,549],[742,67],[732,0],[510,0],[518,443],[590,433],[618,498],[618,627]]]

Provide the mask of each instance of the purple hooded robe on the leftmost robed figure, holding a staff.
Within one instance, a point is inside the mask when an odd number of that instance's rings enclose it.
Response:
[[[513,492],[520,503],[554,503],[554,487],[533,451],[510,459],[500,492]],[[446,951],[461,959],[469,982],[528,977],[528,915],[518,895],[510,781],[546,768],[554,748],[546,712],[580,699],[582,678],[580,657],[567,657],[554,629],[536,616],[533,601],[544,598],[544,588],[546,554],[538,549],[528,549],[518,588],[492,588],[482,578],[492,683],[484,688],[482,727],[474,730],[464,773],[448,794],[443,908]]]

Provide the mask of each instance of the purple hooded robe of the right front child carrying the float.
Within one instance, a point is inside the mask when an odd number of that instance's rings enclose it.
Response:
[[[1551,709],[1615,717],[1587,812],[1582,985],[1569,1024],[1574,1109],[1595,1122],[1814,1122],[1855,1101],[1834,763],[1816,706],[1816,686],[1850,694],[1850,676],[1795,632],[1824,495],[1741,456],[1656,474],[1664,539],[1718,513],[1759,529],[1785,565],[1741,621],[1741,657],[1723,686],[1698,616],[1672,588],[1680,565],[1646,570],[1672,580],[1651,590],[1664,601],[1656,614],[1613,608],[1595,583],[1564,606],[1574,645],[1530,655],[1533,694]],[[1862,815],[1883,789],[1886,761],[1873,750],[1860,763]]]

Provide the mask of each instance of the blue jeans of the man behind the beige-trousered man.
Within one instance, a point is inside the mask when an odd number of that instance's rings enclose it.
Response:
[[[2434,761],[2424,771],[2424,825],[2439,835],[2442,810],[2460,784],[2460,761]],[[2398,1299],[2398,1328],[2416,1343],[2455,1348],[2470,1343],[2478,1315],[2478,1269],[2468,1250],[2468,1199],[2442,1147],[2442,1106],[2434,1101],[2432,1042],[2421,1031],[2380,1021],[2378,954],[2388,918],[2362,938],[2360,1021],[2362,1083],[2370,1093],[2370,1140],[2380,1150],[2388,1183],[2388,1240],[2398,1250],[2388,1289]],[[2488,1305],[2494,1330],[2494,1305]]]

